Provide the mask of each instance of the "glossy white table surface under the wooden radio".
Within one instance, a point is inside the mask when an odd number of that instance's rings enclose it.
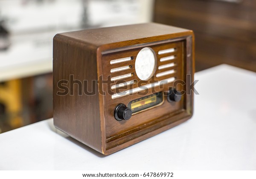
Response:
[[[52,119],[0,134],[1,170],[256,170],[256,73],[221,65],[195,74],[189,121],[110,156]]]

